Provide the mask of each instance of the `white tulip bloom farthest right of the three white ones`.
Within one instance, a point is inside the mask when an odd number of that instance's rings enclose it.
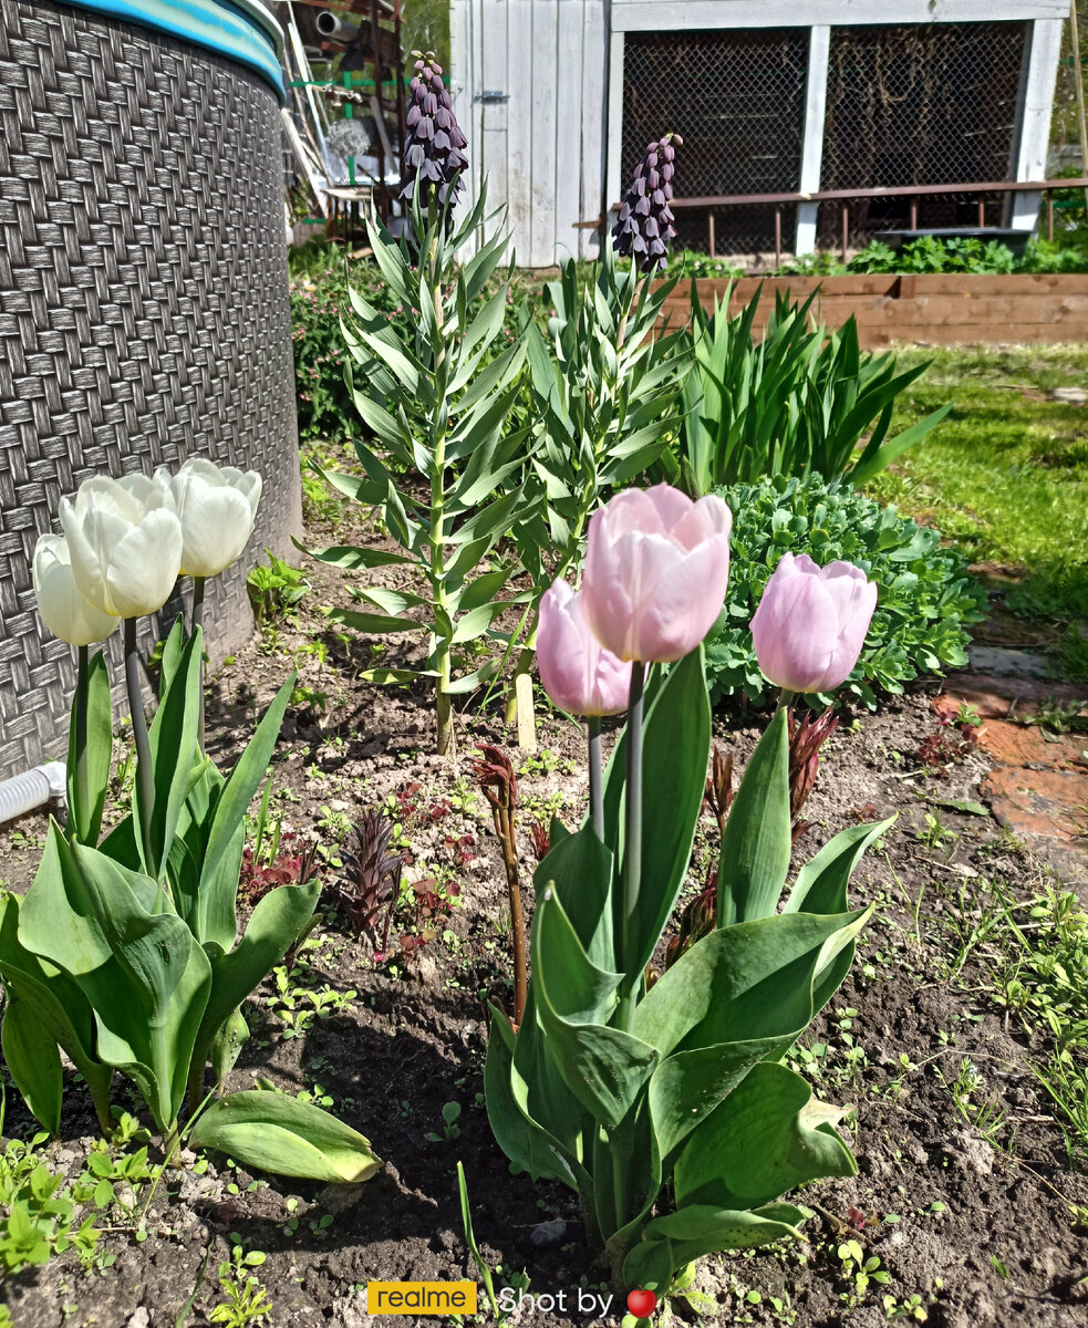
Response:
[[[262,481],[255,470],[191,457],[175,475],[155,479],[182,526],[182,575],[218,576],[242,556],[256,519]]]

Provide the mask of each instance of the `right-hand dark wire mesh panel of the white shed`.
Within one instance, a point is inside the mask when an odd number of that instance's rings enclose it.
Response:
[[[822,189],[1012,178],[1026,23],[836,28],[828,69]],[[982,203],[982,208],[979,205]],[[849,205],[852,244],[903,227],[999,226],[1000,194]],[[820,208],[841,243],[842,207]]]

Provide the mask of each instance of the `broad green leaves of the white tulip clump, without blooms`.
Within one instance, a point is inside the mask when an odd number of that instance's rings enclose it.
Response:
[[[194,606],[198,618],[199,596]],[[151,611],[147,608],[146,611]],[[238,762],[223,774],[202,750],[199,622],[178,618],[161,655],[158,706],[146,722],[133,619],[125,622],[137,766],[132,813],[101,838],[113,724],[104,655],[86,660],[73,700],[66,830],[50,821],[23,899],[0,898],[4,1060],[27,1105],[56,1133],[61,1050],[112,1133],[120,1072],[177,1147],[194,1143],[288,1175],[364,1179],[367,1139],[325,1112],[278,1093],[234,1093],[207,1106],[248,1036],[242,1003],[306,930],[314,880],[267,894],[239,932],[236,894],[246,811],[264,780],[294,677]]]

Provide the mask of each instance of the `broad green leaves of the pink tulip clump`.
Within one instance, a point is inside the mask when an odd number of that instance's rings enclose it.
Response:
[[[578,1191],[618,1291],[659,1297],[700,1255],[798,1235],[809,1214],[782,1197],[856,1173],[841,1110],[782,1057],[850,967],[871,907],[849,908],[848,880],[891,823],[832,839],[778,911],[790,865],[780,709],[725,823],[716,927],[647,987],[688,874],[709,744],[699,647],[651,672],[640,732],[628,724],[604,776],[603,834],[553,822],[525,1017],[514,1029],[493,1011],[488,1048],[488,1113],[507,1157]]]

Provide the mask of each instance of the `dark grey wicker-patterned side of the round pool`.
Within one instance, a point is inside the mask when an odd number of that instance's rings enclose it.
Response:
[[[31,584],[61,494],[189,456],[263,474],[250,547],[209,584],[215,663],[252,631],[246,571],[300,526],[294,381],[271,89],[161,33],[0,0],[0,778],[65,749],[73,649]]]

